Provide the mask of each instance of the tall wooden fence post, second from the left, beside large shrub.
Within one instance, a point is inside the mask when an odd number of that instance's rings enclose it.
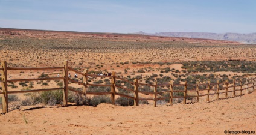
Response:
[[[64,61],[63,106],[68,106],[68,60]]]

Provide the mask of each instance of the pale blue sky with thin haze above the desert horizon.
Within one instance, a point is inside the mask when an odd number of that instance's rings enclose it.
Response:
[[[256,33],[255,0],[0,0],[0,27]]]

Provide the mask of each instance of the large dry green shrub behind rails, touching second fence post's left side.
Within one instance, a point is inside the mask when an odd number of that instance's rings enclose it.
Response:
[[[56,104],[62,104],[63,91],[43,91],[39,94],[39,97],[42,98],[42,103],[55,106]]]

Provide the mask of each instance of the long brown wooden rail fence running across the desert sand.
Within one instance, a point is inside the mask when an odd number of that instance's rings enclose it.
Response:
[[[37,79],[8,79],[7,71],[8,70],[63,70],[63,77],[47,77],[47,78],[37,78]],[[169,100],[170,105],[173,104],[174,98],[183,98],[183,103],[187,103],[187,98],[196,98],[196,101],[199,101],[199,97],[205,97],[206,101],[210,101],[210,95],[216,95],[215,100],[220,99],[220,94],[224,94],[225,98],[228,98],[228,93],[231,92],[231,97],[235,97],[238,95],[243,95],[245,93],[250,93],[255,90],[255,80],[253,79],[246,79],[246,81],[240,80],[233,80],[232,82],[217,82],[217,83],[199,83],[196,84],[188,84],[185,82],[184,84],[174,84],[171,80],[169,83],[165,84],[158,84],[155,82],[154,84],[147,84],[147,83],[139,83],[138,79],[133,81],[123,79],[121,77],[116,76],[115,72],[112,72],[111,76],[101,76],[95,74],[88,74],[88,70],[85,69],[82,72],[74,70],[71,67],[68,67],[68,61],[64,62],[63,67],[37,67],[37,68],[17,68],[17,67],[7,67],[7,62],[1,62],[1,76],[2,79],[0,82],[2,83],[2,112],[8,112],[8,94],[16,94],[16,93],[25,93],[25,92],[41,92],[41,91],[54,91],[54,90],[63,90],[63,106],[68,105],[68,90],[78,92],[79,94],[84,95],[110,95],[112,104],[115,104],[115,95],[120,97],[130,98],[134,100],[134,106],[138,106],[139,101],[141,100],[152,100],[153,106],[156,107],[156,103],[159,100]],[[77,74],[83,76],[83,81],[72,80],[68,77],[69,71],[73,71]],[[110,84],[94,84],[88,83],[88,77],[108,77],[111,79]],[[23,82],[23,81],[33,81],[33,80],[63,80],[63,88],[49,88],[49,89],[35,89],[35,90],[28,90],[28,91],[8,91],[7,82]],[[117,85],[117,80],[121,80],[129,85],[132,85],[134,88],[130,89],[124,86]],[[71,88],[68,86],[68,83],[77,83],[78,85],[83,86],[83,91],[78,91],[77,89]],[[110,87],[110,92],[90,92],[88,91],[89,86],[103,86],[103,87]],[[153,91],[139,91],[141,86],[149,86],[152,87]],[[167,87],[168,91],[158,91],[158,88]],[[179,89],[174,89],[175,87],[179,87]],[[190,89],[188,89],[190,87]],[[126,91],[132,92],[133,95],[121,94],[120,92],[116,91],[117,88],[124,89]],[[236,93],[238,91],[239,94]],[[243,93],[243,91],[245,91]],[[206,94],[205,94],[206,92]],[[158,95],[162,95],[164,93],[169,93],[168,97],[158,97]],[[179,96],[176,94],[179,93]],[[147,94],[152,96],[152,98],[139,98],[139,94]]]

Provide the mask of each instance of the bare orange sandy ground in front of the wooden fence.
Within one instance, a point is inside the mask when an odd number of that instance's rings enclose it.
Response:
[[[225,134],[256,131],[256,92],[173,106],[42,107],[0,115],[0,134]]]

